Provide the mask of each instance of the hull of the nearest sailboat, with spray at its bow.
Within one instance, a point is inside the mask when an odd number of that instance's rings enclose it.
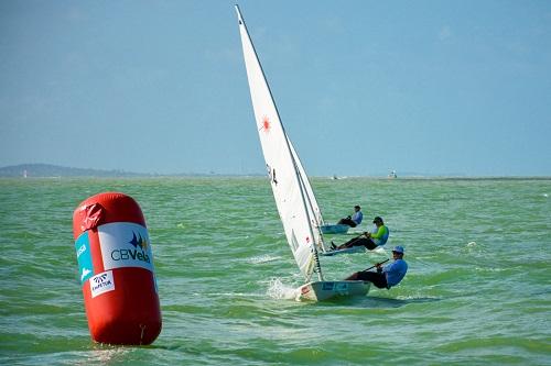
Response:
[[[296,300],[324,301],[339,297],[366,296],[369,286],[369,282],[358,280],[314,281],[299,287]]]

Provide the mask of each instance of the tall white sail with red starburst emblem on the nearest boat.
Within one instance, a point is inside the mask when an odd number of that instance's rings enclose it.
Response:
[[[270,87],[237,5],[236,11],[257,130],[287,241],[305,279],[310,280],[315,268],[318,269],[322,279],[316,256],[315,230],[311,225],[316,219],[311,218],[313,209],[307,203],[306,185],[310,184],[305,184],[307,178],[300,177],[302,165],[288,140]]]

